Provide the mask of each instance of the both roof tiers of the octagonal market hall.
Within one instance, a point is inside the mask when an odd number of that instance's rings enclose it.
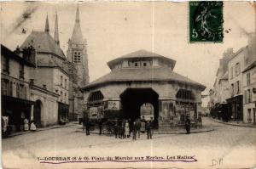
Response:
[[[168,59],[159,54],[154,54],[145,50],[139,50],[131,54],[126,54],[124,56],[121,56],[118,59],[148,58],[148,57],[157,57],[160,59],[164,58],[166,60],[171,61],[172,64],[175,64],[176,62],[175,60]],[[143,67],[143,69],[138,67],[134,67],[132,69],[113,69],[107,75],[102,76],[93,82],[90,82],[89,84],[84,86],[83,89],[86,90],[91,87],[99,87],[105,84],[116,83],[116,82],[178,82],[178,83],[190,84],[195,87],[200,87],[202,90],[206,88],[201,83],[195,82],[186,76],[179,75],[168,67],[157,66],[157,67]]]

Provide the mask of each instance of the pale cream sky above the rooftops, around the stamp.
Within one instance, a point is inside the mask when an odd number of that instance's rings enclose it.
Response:
[[[15,50],[32,31],[44,31],[49,16],[54,34],[58,14],[60,44],[67,54],[78,2],[1,4],[0,40]],[[219,59],[227,48],[236,52],[255,32],[256,6],[249,2],[224,2],[224,42],[189,43],[189,3],[79,2],[80,24],[87,41],[90,82],[107,74],[107,62],[145,49],[177,60],[174,71],[212,87]]]

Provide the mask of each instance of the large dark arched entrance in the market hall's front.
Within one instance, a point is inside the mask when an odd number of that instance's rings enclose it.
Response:
[[[120,95],[122,104],[122,115],[125,119],[141,117],[141,106],[149,103],[154,107],[154,127],[158,127],[159,117],[159,95],[152,88],[127,88]]]

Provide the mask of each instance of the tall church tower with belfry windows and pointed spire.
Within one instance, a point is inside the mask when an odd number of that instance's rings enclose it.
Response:
[[[86,40],[83,38],[80,26],[78,6],[72,37],[68,40],[67,60],[73,63],[73,65],[76,67],[79,87],[84,87],[84,85],[89,83],[86,45]]]

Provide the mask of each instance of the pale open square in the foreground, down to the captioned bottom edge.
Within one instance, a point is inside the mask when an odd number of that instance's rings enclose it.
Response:
[[[13,138],[2,139],[3,167],[252,167],[256,160],[256,128],[220,124],[207,117],[204,126],[212,132],[191,134],[154,134],[148,140],[141,138],[120,139],[98,135],[96,131],[86,136],[82,126],[61,127],[41,132],[31,132]],[[60,164],[40,163],[45,157],[89,157],[90,160],[106,160],[108,156],[120,157],[177,157],[194,156],[196,161],[147,161],[147,162],[67,162]],[[92,159],[94,158],[94,159]],[[41,159],[41,160],[39,160]],[[127,158],[126,158],[127,159]],[[39,161],[38,161],[39,160]],[[133,159],[134,160],[134,159]],[[145,159],[144,159],[145,160]],[[52,162],[52,161],[51,161]],[[56,161],[59,162],[59,161]]]

